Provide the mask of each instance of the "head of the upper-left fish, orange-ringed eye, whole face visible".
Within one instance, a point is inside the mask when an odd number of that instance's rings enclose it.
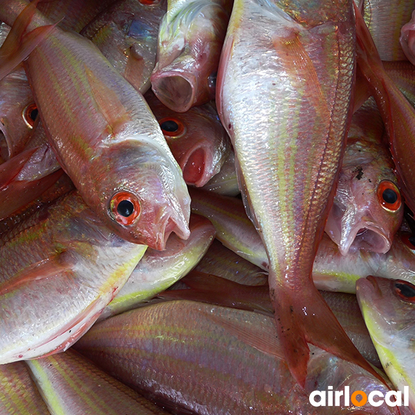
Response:
[[[128,241],[157,250],[165,248],[172,232],[187,239],[190,196],[174,163],[145,137],[104,150],[95,163],[93,182],[107,226]]]

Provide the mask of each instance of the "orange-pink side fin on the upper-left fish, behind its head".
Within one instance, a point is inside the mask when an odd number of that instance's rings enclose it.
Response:
[[[95,103],[105,120],[107,120],[111,134],[115,136],[122,131],[125,123],[129,120],[127,109],[114,89],[104,84],[86,65],[84,65],[84,68]]]

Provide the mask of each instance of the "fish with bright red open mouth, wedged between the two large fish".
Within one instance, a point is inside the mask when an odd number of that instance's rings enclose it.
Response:
[[[185,113],[177,113],[165,107],[154,93],[147,93],[145,99],[187,185],[204,186],[220,172],[231,147],[214,104],[208,102]]]

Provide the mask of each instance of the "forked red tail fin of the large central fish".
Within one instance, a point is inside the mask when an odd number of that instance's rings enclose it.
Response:
[[[271,273],[270,273],[271,275]],[[270,279],[270,284],[272,279]],[[311,293],[304,297],[302,293]],[[312,282],[301,291],[281,293],[270,289],[275,306],[278,336],[291,374],[299,385],[306,382],[308,343],[362,367],[381,382],[382,378],[363,358]],[[300,297],[299,297],[300,296]]]

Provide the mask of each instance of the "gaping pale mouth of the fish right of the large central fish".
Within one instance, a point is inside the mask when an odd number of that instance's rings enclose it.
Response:
[[[366,225],[366,226],[364,226]],[[348,234],[342,232],[339,250],[347,255],[349,250],[364,249],[369,252],[385,254],[391,248],[391,239],[377,226],[371,223],[360,222]]]

